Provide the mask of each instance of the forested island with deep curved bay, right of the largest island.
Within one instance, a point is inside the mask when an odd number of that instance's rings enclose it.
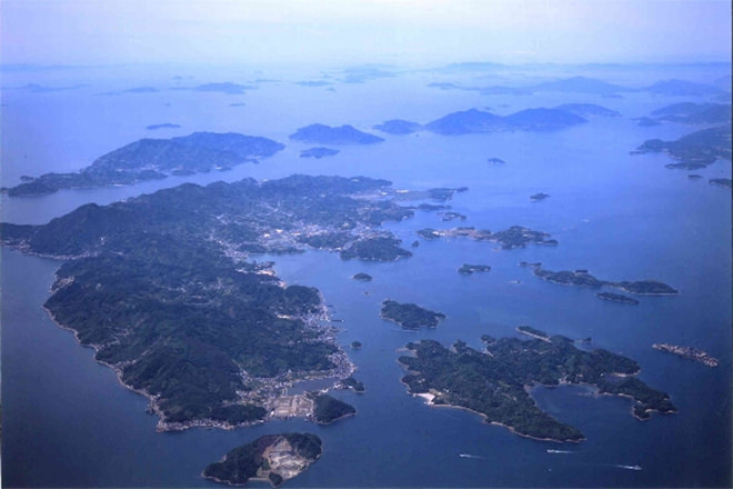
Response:
[[[530,395],[533,386],[580,383],[631,397],[639,419],[647,419],[651,411],[675,411],[666,393],[634,377],[640,370],[635,361],[603,349],[580,350],[565,337],[533,328],[522,332],[534,338],[496,340],[484,335],[485,351],[463,341],[452,349],[433,340],[411,342],[406,348],[413,355],[399,360],[408,370],[402,382],[432,406],[465,408],[518,435],[555,441],[581,441],[583,433],[542,411]]]

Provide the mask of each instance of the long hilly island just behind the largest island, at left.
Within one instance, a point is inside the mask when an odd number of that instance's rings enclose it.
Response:
[[[171,174],[229,169],[257,162],[284,148],[271,139],[234,132],[194,132],[171,139],[141,139],[96,159],[73,173],[44,173],[7,189],[11,197],[53,193],[61,189],[131,184]]]

